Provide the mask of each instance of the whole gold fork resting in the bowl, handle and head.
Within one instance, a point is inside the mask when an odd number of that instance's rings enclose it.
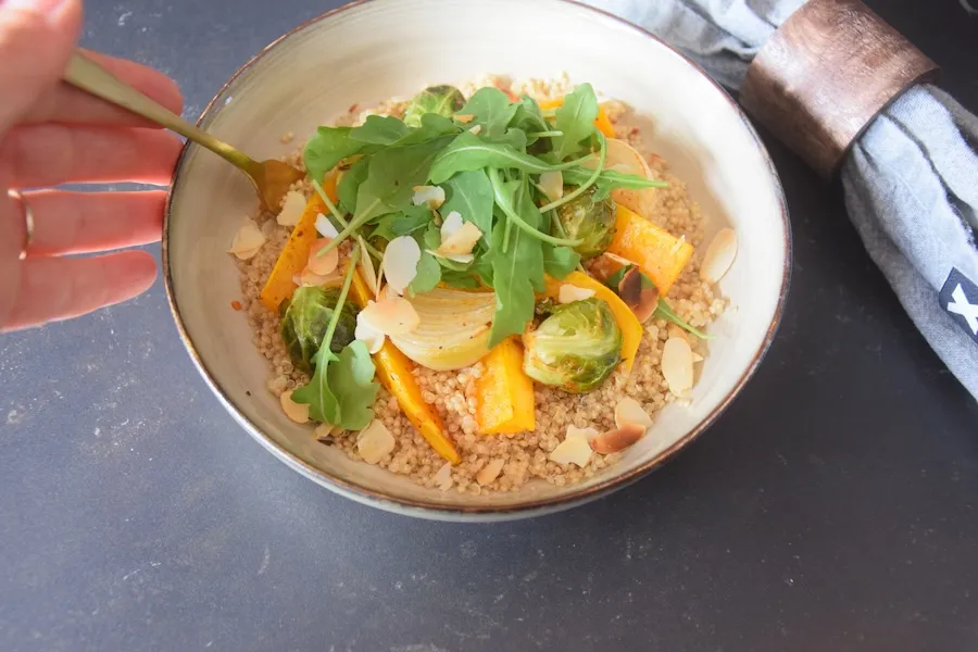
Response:
[[[137,115],[160,124],[180,136],[205,147],[241,172],[254,184],[262,206],[277,212],[289,187],[305,175],[281,161],[255,161],[243,152],[197,128],[165,106],[154,102],[131,86],[114,77],[101,65],[80,52],[75,52],[64,73],[64,79],[73,86],[112,102]]]

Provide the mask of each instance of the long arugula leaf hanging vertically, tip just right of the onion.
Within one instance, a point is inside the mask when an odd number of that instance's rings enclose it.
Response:
[[[539,228],[542,217],[534,204],[527,188],[527,180],[502,184],[502,191],[510,196],[512,205],[529,226]],[[510,229],[506,237],[505,222],[496,225],[492,239],[497,246],[490,251],[492,263],[492,287],[496,290],[496,314],[489,333],[492,348],[511,335],[519,335],[534,316],[536,297],[534,288],[542,290],[543,278],[542,242],[526,234],[522,228]],[[505,242],[506,252],[498,243]]]

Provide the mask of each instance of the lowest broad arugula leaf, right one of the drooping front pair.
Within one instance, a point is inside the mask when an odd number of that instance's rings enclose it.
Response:
[[[374,418],[373,405],[380,389],[380,385],[374,381],[375,372],[371,352],[362,341],[353,340],[340,351],[336,362],[326,369],[327,385],[337,402],[338,418],[336,423],[333,423],[344,430],[367,427]]]

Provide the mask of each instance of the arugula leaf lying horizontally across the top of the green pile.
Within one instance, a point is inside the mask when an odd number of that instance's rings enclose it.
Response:
[[[577,164],[577,162],[556,165],[546,163],[510,145],[486,142],[472,131],[464,131],[438,154],[431,165],[428,179],[432,184],[439,185],[460,172],[472,172],[484,167],[516,168],[541,174]]]

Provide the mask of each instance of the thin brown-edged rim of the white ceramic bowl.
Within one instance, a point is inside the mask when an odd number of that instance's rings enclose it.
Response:
[[[218,99],[224,95],[224,92],[228,89],[230,85],[233,85],[238,77],[250,71],[250,68],[258,63],[262,58],[264,58],[268,52],[273,49],[279,47],[285,40],[290,38],[292,35],[302,32],[303,29],[319,23],[322,21],[328,21],[336,15],[339,15],[343,12],[350,11],[352,9],[356,9],[361,5],[369,4],[373,2],[379,2],[380,0],[353,0],[348,4],[343,4],[337,9],[327,11],[323,14],[319,14],[301,25],[293,27],[292,29],[286,32],[274,41],[262,48],[258,53],[255,53],[251,59],[249,59],[241,67],[239,67],[235,73],[224,83],[224,85],[217,90],[214,95],[213,99],[208,103],[204,110],[201,112],[200,117],[197,121],[197,126],[200,128],[205,128],[205,125],[210,123],[217,114],[220,114],[220,106],[217,106]],[[390,0],[387,0],[390,1]],[[723,400],[707,413],[700,422],[693,426],[688,432],[686,432],[682,437],[677,439],[666,449],[660,451],[654,457],[644,462],[634,469],[616,475],[614,477],[610,477],[604,479],[603,481],[597,482],[595,485],[587,488],[581,488],[578,490],[572,490],[566,494],[557,496],[557,497],[549,497],[549,498],[539,498],[535,500],[529,500],[524,503],[515,504],[515,505],[450,505],[439,502],[429,502],[425,500],[414,500],[404,497],[400,497],[393,493],[388,493],[383,490],[372,489],[368,487],[364,487],[353,481],[343,480],[337,477],[334,477],[319,468],[312,466],[306,463],[302,459],[292,454],[285,448],[280,447],[274,440],[272,440],[268,436],[266,436],[261,428],[259,428],[254,423],[252,423],[239,409],[239,406],[235,403],[235,401],[230,398],[230,394],[225,391],[222,387],[221,383],[216,377],[211,373],[211,369],[204,364],[203,359],[198,353],[197,348],[193,341],[190,339],[190,335],[187,330],[186,324],[184,323],[183,315],[180,314],[180,309],[177,305],[176,300],[176,291],[174,288],[173,281],[173,272],[171,268],[171,256],[170,256],[170,227],[172,221],[172,211],[173,211],[173,199],[176,190],[178,188],[180,173],[184,166],[187,164],[189,159],[189,152],[191,150],[191,142],[187,141],[180,151],[179,159],[177,160],[176,166],[174,167],[173,173],[173,181],[167,188],[166,192],[166,202],[164,206],[163,213],[163,238],[161,243],[162,249],[162,268],[163,268],[163,281],[166,290],[166,300],[170,304],[171,313],[173,314],[174,322],[177,327],[177,331],[180,340],[184,343],[184,347],[187,349],[187,352],[190,354],[191,360],[193,361],[195,366],[197,366],[198,372],[203,377],[204,381],[210,387],[211,391],[217,397],[218,401],[224,405],[225,410],[227,410],[235,421],[238,422],[239,425],[249,434],[252,438],[254,438],[259,443],[261,443],[265,449],[272,452],[276,457],[278,457],[281,462],[285,462],[288,466],[299,472],[306,478],[313,480],[314,482],[330,489],[341,496],[347,498],[351,498],[358,502],[368,504],[371,506],[379,507],[387,511],[393,512],[406,512],[413,513],[418,516],[427,516],[434,518],[462,518],[462,519],[476,519],[479,516],[481,517],[491,517],[491,516],[500,516],[500,517],[509,517],[509,518],[518,518],[522,516],[532,516],[538,513],[543,513],[548,511],[560,511],[564,509],[569,509],[573,506],[577,506],[579,504],[584,504],[586,502],[590,502],[597,498],[600,498],[606,493],[615,491],[617,489],[622,489],[638,479],[647,476],[651,472],[655,471],[666,462],[670,461],[675,457],[679,451],[686,449],[692,441],[698,439],[710,426],[712,426],[717,418],[730,406],[734,400],[740,394],[743,387],[753,377],[761,362],[764,360],[764,356],[770,350],[770,346],[774,341],[774,338],[777,334],[778,327],[781,324],[781,321],[785,315],[785,306],[788,299],[788,291],[791,285],[791,267],[793,260],[793,237],[791,233],[791,222],[788,215],[788,203],[785,198],[785,190],[781,186],[780,177],[778,176],[777,170],[774,165],[774,162],[770,159],[770,154],[767,151],[767,148],[764,146],[764,142],[761,140],[756,129],[751,124],[747,114],[743,112],[740,105],[734,100],[734,98],[727,92],[727,90],[713,77],[706,73],[705,70],[701,65],[699,65],[695,61],[680,52],[678,49],[674,48],[669,43],[665,42],[663,39],[649,32],[648,29],[630,23],[615,14],[599,9],[595,7],[591,7],[589,4],[585,4],[579,0],[557,0],[559,2],[563,2],[566,4],[573,4],[576,8],[584,9],[586,11],[594,12],[600,14],[606,18],[612,18],[613,21],[619,23],[624,27],[628,29],[632,29],[638,32],[645,38],[649,38],[655,41],[659,46],[664,47],[673,52],[676,57],[679,57],[686,63],[688,63],[692,68],[706,78],[706,80],[713,85],[713,87],[720,93],[720,97],[727,101],[737,116],[740,118],[740,122],[748,130],[748,134],[752,137],[755,147],[758,149],[762,159],[767,168],[767,174],[770,179],[774,181],[774,189],[776,199],[778,201],[778,205],[780,208],[780,216],[785,230],[785,265],[781,269],[781,285],[778,293],[778,301],[775,308],[774,315],[772,316],[770,324],[768,324],[767,331],[764,336],[764,339],[761,343],[761,347],[754,352],[751,358],[750,363],[741,373],[740,377],[735,383],[732,389],[723,398]],[[215,108],[217,111],[215,111]]]

